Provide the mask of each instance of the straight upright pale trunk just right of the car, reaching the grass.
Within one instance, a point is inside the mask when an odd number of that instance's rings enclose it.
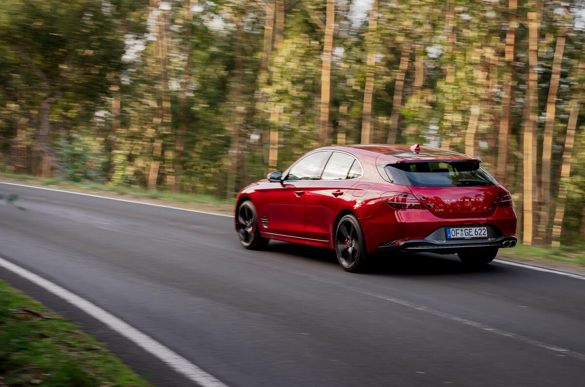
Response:
[[[528,122],[524,125],[524,232],[522,243],[531,246],[534,240],[534,185],[536,183],[536,123],[538,119],[538,15],[528,12]]]

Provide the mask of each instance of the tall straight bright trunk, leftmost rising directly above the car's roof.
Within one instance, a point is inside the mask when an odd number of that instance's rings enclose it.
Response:
[[[327,0],[325,16],[325,39],[321,60],[321,103],[319,114],[319,145],[331,141],[329,127],[329,102],[331,101],[331,54],[335,28],[335,1]]]

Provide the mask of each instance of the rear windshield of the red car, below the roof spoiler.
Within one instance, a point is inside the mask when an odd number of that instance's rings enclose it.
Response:
[[[479,161],[415,161],[384,167],[390,182],[418,187],[497,185]],[[380,171],[381,172],[381,171]]]

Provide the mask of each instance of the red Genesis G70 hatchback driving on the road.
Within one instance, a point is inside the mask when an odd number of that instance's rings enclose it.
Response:
[[[488,264],[516,245],[516,213],[480,163],[418,144],[318,148],[239,192],[236,231],[249,249],[270,239],[335,249],[347,271],[392,251]]]

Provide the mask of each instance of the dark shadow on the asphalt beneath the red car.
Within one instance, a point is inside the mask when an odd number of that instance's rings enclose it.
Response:
[[[266,251],[279,254],[308,258],[310,260],[329,262],[339,265],[335,251],[323,247],[305,244],[270,241]],[[339,267],[340,270],[343,270]],[[450,275],[489,273],[501,271],[493,264],[484,267],[472,267],[464,264],[457,255],[431,253],[385,253],[370,254],[360,274],[370,275]]]

